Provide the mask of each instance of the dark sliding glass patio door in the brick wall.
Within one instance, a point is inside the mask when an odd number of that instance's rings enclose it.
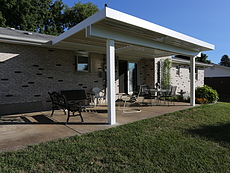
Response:
[[[132,94],[137,88],[137,63],[119,61],[119,92]]]

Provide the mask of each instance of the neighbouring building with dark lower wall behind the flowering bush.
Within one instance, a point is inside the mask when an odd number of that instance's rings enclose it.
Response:
[[[204,83],[217,90],[220,96],[230,96],[230,67],[213,64],[205,69]]]

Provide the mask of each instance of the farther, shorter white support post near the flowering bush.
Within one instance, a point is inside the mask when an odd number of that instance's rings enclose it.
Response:
[[[190,105],[195,106],[195,90],[196,90],[196,80],[195,80],[195,59],[200,56],[200,53],[194,57],[190,57]]]

